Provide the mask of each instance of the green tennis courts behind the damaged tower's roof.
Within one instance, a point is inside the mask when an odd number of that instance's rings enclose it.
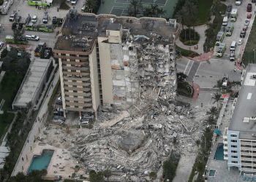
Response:
[[[104,1],[99,7],[99,14],[112,14],[116,16],[127,16],[128,7],[131,0],[108,0]],[[143,7],[148,7],[151,4],[157,4],[159,8],[165,10],[165,18],[172,18],[174,7],[178,0],[140,0]]]

